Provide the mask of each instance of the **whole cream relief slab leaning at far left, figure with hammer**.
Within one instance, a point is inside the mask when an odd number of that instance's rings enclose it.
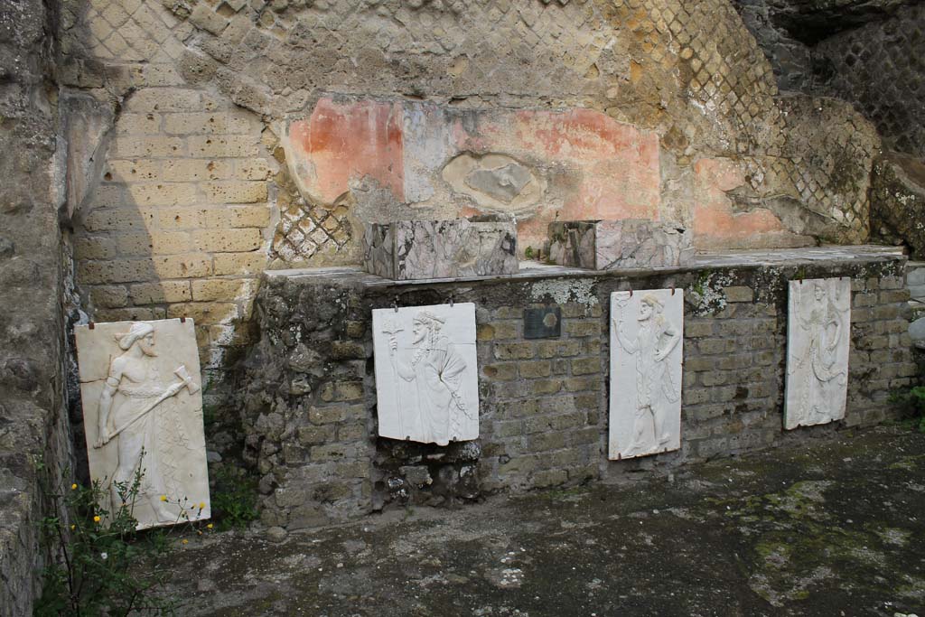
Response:
[[[199,352],[191,319],[75,328],[90,475],[100,506],[129,504],[138,527],[209,518]]]

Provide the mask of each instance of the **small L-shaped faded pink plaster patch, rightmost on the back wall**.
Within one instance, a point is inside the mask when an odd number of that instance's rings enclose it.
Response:
[[[760,248],[795,244],[781,220],[770,210],[736,213],[726,191],[745,184],[745,174],[733,161],[704,158],[694,164],[696,176],[694,245],[700,250]]]

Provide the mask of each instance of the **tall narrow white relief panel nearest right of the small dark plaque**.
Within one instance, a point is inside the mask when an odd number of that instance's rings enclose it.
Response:
[[[681,448],[683,294],[611,294],[611,460]]]

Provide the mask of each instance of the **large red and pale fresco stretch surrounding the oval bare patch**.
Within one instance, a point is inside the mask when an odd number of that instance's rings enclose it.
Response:
[[[399,204],[439,217],[513,214],[521,245],[539,246],[560,220],[660,217],[655,133],[587,110],[459,109],[407,101],[335,102],[290,123],[287,157],[304,192],[326,204],[369,177]],[[542,185],[529,204],[463,194],[441,171],[455,157],[502,154]],[[400,212],[401,208],[396,210]],[[423,212],[419,210],[418,212]],[[402,216],[415,217],[416,212]]]

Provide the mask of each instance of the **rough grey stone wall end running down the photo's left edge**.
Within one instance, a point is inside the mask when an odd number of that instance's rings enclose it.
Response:
[[[65,404],[65,279],[59,226],[54,3],[0,3],[0,614],[30,615],[41,592],[44,467],[73,469]],[[66,216],[64,216],[66,219]]]

